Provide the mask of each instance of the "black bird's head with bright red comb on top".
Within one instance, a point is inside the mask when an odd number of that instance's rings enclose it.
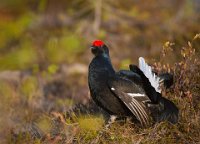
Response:
[[[91,48],[92,53],[95,56],[101,55],[101,54],[109,55],[108,47],[101,40],[95,40],[92,43],[92,46],[90,48]]]

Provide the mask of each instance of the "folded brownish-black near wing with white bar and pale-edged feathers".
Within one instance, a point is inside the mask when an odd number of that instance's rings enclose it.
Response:
[[[122,78],[109,79],[110,90],[127,106],[144,126],[149,124],[150,117],[145,102],[150,101],[138,85]]]

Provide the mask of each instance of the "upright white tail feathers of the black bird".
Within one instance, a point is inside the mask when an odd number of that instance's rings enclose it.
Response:
[[[145,62],[143,57],[139,58],[139,68],[144,73],[144,75],[149,79],[151,85],[155,88],[155,90],[161,93],[160,89],[160,78],[152,72],[152,68]]]

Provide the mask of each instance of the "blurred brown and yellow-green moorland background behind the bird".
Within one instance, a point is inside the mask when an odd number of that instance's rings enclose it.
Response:
[[[140,56],[159,60],[168,41],[173,64],[199,30],[200,0],[1,0],[0,138],[87,103],[93,40],[127,69]]]

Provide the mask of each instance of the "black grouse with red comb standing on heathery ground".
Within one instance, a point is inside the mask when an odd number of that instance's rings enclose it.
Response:
[[[94,55],[88,68],[90,94],[110,115],[109,124],[118,117],[131,117],[142,126],[150,125],[152,120],[178,122],[177,106],[161,94],[160,83],[169,87],[170,74],[159,77],[143,57],[139,58],[139,67],[130,64],[130,70],[116,71],[103,41],[93,41],[90,49]]]

